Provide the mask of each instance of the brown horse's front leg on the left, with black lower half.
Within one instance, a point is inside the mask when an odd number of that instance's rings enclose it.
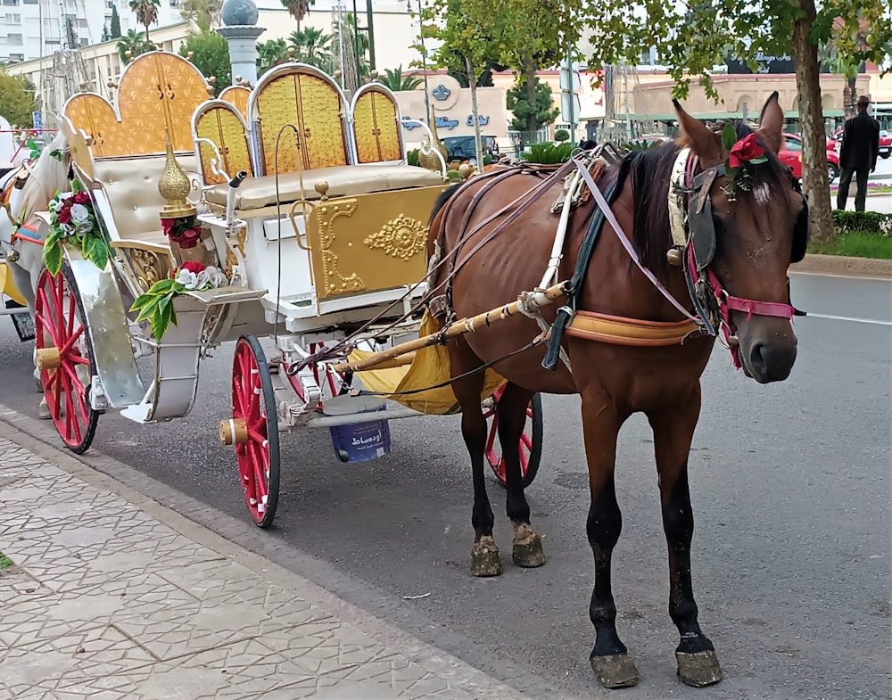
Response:
[[[605,688],[628,688],[639,681],[638,669],[616,632],[616,605],[610,583],[613,550],[623,530],[614,482],[616,435],[626,416],[619,416],[598,389],[582,391],[582,435],[589,465],[591,506],[585,530],[595,557],[595,588],[589,617],[595,646],[589,660]]]

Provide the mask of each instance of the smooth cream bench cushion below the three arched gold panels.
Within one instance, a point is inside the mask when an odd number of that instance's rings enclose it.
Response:
[[[341,165],[335,168],[319,168],[303,171],[303,191],[308,200],[319,198],[314,185],[319,180],[328,183],[329,197],[355,196],[410,187],[442,185],[438,172],[415,165]],[[213,204],[226,205],[228,185],[217,185],[205,196]],[[301,179],[298,173],[283,173],[278,177],[279,201],[283,204],[301,198]],[[249,177],[235,195],[235,209],[251,210],[276,204],[276,177],[264,175]]]

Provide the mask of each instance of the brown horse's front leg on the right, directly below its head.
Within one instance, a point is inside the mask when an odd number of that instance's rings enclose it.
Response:
[[[690,541],[694,515],[688,489],[690,442],[700,414],[700,387],[685,400],[648,414],[654,431],[663,528],[669,546],[669,615],[681,634],[675,650],[678,677],[689,686],[711,686],[722,679],[713,643],[697,621],[690,580]]]

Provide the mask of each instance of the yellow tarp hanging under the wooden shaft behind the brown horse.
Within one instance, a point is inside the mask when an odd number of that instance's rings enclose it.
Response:
[[[421,320],[420,335],[437,333],[441,328],[440,323],[425,311],[425,317]],[[375,353],[371,350],[353,350],[350,360],[368,358]],[[399,401],[421,413],[436,416],[444,416],[450,413],[458,413],[458,399],[452,392],[452,387],[447,385],[440,389],[418,391],[414,394],[398,394],[399,391],[412,391],[425,389],[446,382],[450,378],[449,350],[443,345],[432,345],[416,352],[412,364],[409,366],[392,367],[389,369],[368,369],[357,372],[359,379],[369,391],[380,391],[389,394],[388,399]],[[483,391],[480,400],[488,399],[493,391],[496,391],[505,379],[491,369],[486,370],[483,379]]]

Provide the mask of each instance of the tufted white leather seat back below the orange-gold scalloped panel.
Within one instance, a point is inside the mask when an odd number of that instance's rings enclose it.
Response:
[[[167,202],[158,192],[164,162],[164,154],[95,161],[93,177],[103,185],[120,238],[169,243],[160,216]],[[194,154],[178,155],[177,162],[190,181],[197,177]]]

